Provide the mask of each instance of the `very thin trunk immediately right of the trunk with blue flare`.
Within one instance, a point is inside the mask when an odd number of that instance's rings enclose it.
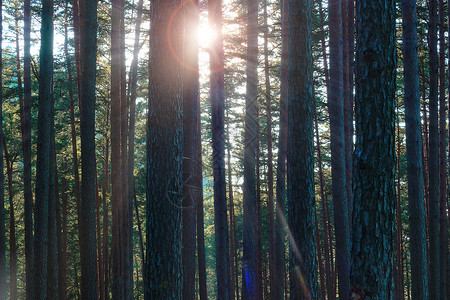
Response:
[[[269,26],[267,25],[267,0],[264,0],[264,76],[266,86],[266,115],[267,115],[267,219],[269,227],[269,286],[274,285],[275,274],[275,227],[273,215],[273,150],[272,150],[272,107],[269,74]],[[270,298],[275,299],[273,293]]]

